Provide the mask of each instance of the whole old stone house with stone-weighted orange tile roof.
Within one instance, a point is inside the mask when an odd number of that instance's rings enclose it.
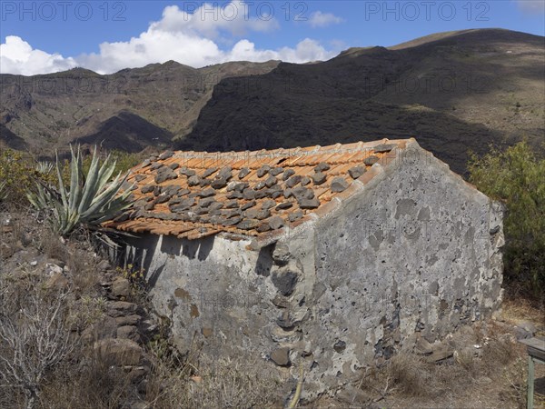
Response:
[[[414,139],[166,152],[131,179],[111,225],[180,348],[302,366],[304,396],[500,305],[500,205]]]

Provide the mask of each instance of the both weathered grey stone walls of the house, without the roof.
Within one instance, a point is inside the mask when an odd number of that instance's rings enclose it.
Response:
[[[501,209],[414,149],[277,243],[135,240],[128,258],[144,265],[180,349],[260,356],[286,395],[302,366],[311,399],[489,316],[501,302]]]

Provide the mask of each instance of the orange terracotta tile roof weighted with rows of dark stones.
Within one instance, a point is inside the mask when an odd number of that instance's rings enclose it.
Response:
[[[406,140],[383,139],[371,143],[315,145],[256,152],[185,151],[175,152],[163,160],[152,156],[149,165],[134,167],[128,178],[130,183],[137,185],[134,197],[139,207],[127,211],[128,220],[114,220],[105,224],[123,231],[170,234],[190,240],[218,233],[272,236],[284,228],[293,228],[314,217],[330,214],[339,205],[338,200],[332,202],[332,199],[350,197],[361,189],[361,184],[380,173],[376,166],[372,168],[364,164],[366,158],[376,155],[380,165],[388,165],[396,157],[395,150],[403,149],[405,145]],[[374,152],[375,146],[378,146],[379,153]],[[393,151],[389,152],[390,148]],[[314,167],[319,164],[326,164],[329,169],[322,170],[325,177],[319,175],[322,179],[317,178],[319,185],[316,185],[312,176],[316,174]],[[196,185],[189,183],[189,175],[180,173],[183,166],[192,174],[194,172],[196,177],[192,182]],[[349,169],[354,166],[367,170],[357,179],[358,182],[349,175]],[[231,175],[225,174],[230,177],[223,183],[218,181],[212,184],[226,167],[232,168]],[[249,173],[241,180],[239,172],[243,168],[248,168]],[[307,183],[302,186],[298,182],[290,191],[283,180],[283,172],[287,170]],[[263,175],[259,177],[258,173]],[[155,183],[158,175],[163,177],[157,180],[164,179],[159,184]],[[346,187],[338,191],[337,183],[337,191],[332,192],[332,181],[338,177],[342,177]],[[243,183],[248,186],[238,185]],[[141,191],[144,186],[146,193]],[[286,198],[290,193],[290,197]],[[253,202],[253,206],[245,208],[244,205]],[[225,206],[227,204],[229,208]],[[299,212],[302,217],[298,218],[295,215]],[[251,222],[250,219],[255,217],[257,221]]]

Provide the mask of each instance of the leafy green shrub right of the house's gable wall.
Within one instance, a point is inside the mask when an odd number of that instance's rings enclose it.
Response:
[[[533,295],[545,292],[545,160],[526,142],[471,155],[470,182],[503,202],[505,278]]]

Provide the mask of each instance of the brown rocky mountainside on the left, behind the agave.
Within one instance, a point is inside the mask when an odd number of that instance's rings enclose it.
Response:
[[[257,75],[278,62],[233,62],[201,69],[173,61],[98,75],[76,68],[50,75],[0,75],[0,142],[35,151],[70,142],[138,152],[186,135],[213,86]]]

